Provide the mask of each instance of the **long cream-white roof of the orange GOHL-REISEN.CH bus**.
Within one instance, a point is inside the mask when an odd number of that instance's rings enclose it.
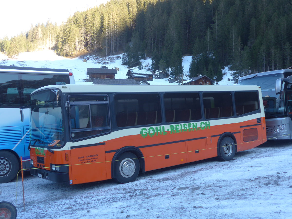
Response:
[[[259,90],[259,86],[218,86],[218,85],[49,85],[35,90],[58,88],[63,93],[112,93],[112,92],[191,92],[191,91],[250,91]],[[33,93],[34,93],[33,92]]]

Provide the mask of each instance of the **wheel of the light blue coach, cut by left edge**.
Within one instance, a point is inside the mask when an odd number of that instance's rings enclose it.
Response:
[[[18,159],[9,151],[0,151],[0,183],[8,183],[15,178],[19,169]]]

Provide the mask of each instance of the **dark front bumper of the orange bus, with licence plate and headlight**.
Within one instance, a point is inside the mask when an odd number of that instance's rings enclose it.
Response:
[[[68,183],[69,184],[69,173],[68,172],[55,172],[45,169],[38,169],[34,166],[30,166],[30,174],[38,176],[40,178],[50,180],[55,183]]]

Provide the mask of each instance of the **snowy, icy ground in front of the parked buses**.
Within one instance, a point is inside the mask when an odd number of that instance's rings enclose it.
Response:
[[[63,185],[33,177],[0,184],[18,218],[292,218],[292,144],[266,142],[216,158],[146,172],[127,184],[113,180]],[[17,202],[16,202],[17,192]]]

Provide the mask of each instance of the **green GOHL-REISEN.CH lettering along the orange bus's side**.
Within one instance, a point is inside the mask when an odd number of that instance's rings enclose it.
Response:
[[[143,138],[147,136],[154,136],[154,135],[167,135],[174,134],[174,133],[181,133],[181,132],[191,132],[191,131],[199,131],[210,129],[210,121],[205,121],[201,123],[192,122],[192,123],[183,123],[183,124],[175,124],[170,125],[169,128],[165,126],[156,126],[150,128],[142,128],[140,131],[140,135]]]

